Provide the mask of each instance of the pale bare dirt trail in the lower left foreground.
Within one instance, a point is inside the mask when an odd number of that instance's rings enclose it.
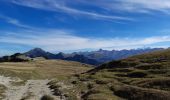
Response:
[[[21,81],[9,77],[0,76],[0,84],[7,87],[3,100],[40,100],[42,96],[49,95],[55,100],[61,100],[54,96],[47,83],[50,80],[28,80],[23,86],[12,85],[12,82]]]

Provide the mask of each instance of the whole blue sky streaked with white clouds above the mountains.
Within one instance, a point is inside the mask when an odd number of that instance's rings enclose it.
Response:
[[[0,0],[0,55],[169,47],[169,0]]]

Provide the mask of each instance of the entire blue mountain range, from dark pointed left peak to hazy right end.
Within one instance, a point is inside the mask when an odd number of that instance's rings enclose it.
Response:
[[[50,52],[46,52],[41,48],[32,49],[24,55],[35,58],[35,57],[44,57],[46,59],[62,59],[62,60],[69,60],[69,61],[77,61],[81,63],[87,63],[92,65],[99,65],[104,62],[108,62],[111,60],[119,60],[124,59],[130,56],[149,53],[153,51],[163,50],[163,48],[145,48],[145,49],[131,49],[131,50],[98,50],[98,51],[91,51],[91,52],[74,52],[71,54],[65,53],[58,53],[53,54]]]

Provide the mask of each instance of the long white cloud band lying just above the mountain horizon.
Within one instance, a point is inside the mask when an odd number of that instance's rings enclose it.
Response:
[[[22,36],[22,33],[25,33]],[[82,49],[132,49],[170,42],[170,36],[147,38],[85,38],[64,30],[46,30],[43,32],[19,32],[13,36],[0,37],[0,43],[41,47],[48,51],[68,51]],[[36,34],[34,34],[36,33]],[[48,34],[50,33],[50,34]],[[20,35],[18,35],[20,34]],[[138,41],[138,42],[136,42]],[[161,45],[162,46],[162,45]]]

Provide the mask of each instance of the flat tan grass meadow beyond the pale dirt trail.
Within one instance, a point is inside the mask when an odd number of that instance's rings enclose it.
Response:
[[[66,78],[91,69],[92,66],[63,60],[0,63],[0,75],[21,79]]]

